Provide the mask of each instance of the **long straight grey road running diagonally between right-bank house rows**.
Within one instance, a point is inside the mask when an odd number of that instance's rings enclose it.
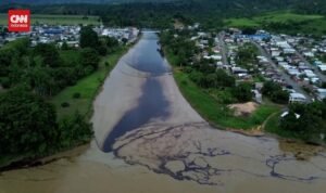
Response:
[[[289,75],[287,75],[284,70],[279,69],[275,62],[271,59],[271,55],[266,52],[265,49],[263,49],[259,43],[252,41],[253,44],[256,46],[256,48],[260,50],[261,54],[265,56],[268,62],[272,64],[272,66],[278,72],[278,74],[281,76],[281,78],[291,86],[297,92],[300,92],[306,97],[309,101],[312,101],[312,98],[294,81],[290,78]]]

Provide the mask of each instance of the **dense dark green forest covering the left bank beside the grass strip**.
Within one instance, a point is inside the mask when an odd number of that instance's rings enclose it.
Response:
[[[0,49],[0,167],[14,160],[49,155],[88,142],[88,117],[79,112],[62,116],[51,99],[92,74],[100,59],[118,49],[112,38],[99,38],[90,26],[82,28],[80,48],[66,43],[29,46],[29,39]],[[109,65],[109,64],[108,64]],[[80,93],[70,98],[77,100]],[[61,108],[70,104],[64,102]],[[58,118],[60,116],[60,119]]]

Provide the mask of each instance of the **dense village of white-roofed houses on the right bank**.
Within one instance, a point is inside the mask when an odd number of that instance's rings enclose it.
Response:
[[[190,27],[191,29],[193,27]],[[214,43],[210,44],[210,39]],[[288,36],[258,30],[243,35],[240,29],[230,28],[212,36],[198,33],[191,37],[201,50],[201,57],[209,60],[216,68],[225,69],[237,81],[253,81],[254,100],[262,103],[263,81],[272,80],[289,92],[289,103],[309,103],[326,98],[326,37],[314,39],[304,36]],[[252,63],[240,65],[238,52],[244,46],[256,49]]]

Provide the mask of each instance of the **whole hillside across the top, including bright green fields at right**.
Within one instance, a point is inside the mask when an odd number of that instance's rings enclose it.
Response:
[[[256,26],[325,34],[325,0],[4,0],[0,4],[1,13],[28,8],[34,14],[98,15],[111,26],[166,28],[177,20],[186,25],[200,22],[206,28]],[[264,15],[280,11],[290,14],[272,14],[272,20]]]

